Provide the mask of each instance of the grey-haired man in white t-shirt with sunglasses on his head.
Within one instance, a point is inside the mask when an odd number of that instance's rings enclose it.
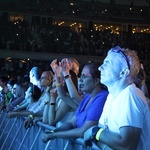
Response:
[[[108,51],[99,70],[109,95],[99,126],[84,133],[85,144],[94,140],[105,150],[150,149],[150,111],[143,92],[133,84],[139,69],[134,51],[119,46]]]

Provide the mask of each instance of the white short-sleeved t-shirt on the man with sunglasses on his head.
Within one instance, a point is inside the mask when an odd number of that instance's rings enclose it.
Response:
[[[134,84],[114,98],[109,94],[99,124],[120,133],[119,128],[133,126],[142,129],[137,150],[150,150],[150,110],[142,91]]]

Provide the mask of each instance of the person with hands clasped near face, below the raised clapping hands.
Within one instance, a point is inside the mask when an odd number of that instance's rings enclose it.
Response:
[[[63,81],[61,84],[64,86]],[[48,123],[51,126],[56,126],[60,120],[62,121],[63,118],[66,118],[65,116],[68,116],[68,112],[72,111],[72,108],[59,97],[56,87],[58,85],[54,77],[53,88],[50,91],[50,101],[45,105],[43,112],[43,123]]]

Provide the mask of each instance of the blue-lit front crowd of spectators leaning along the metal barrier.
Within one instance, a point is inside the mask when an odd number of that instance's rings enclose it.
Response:
[[[135,51],[116,46],[102,64],[63,58],[49,67],[32,66],[24,82],[1,76],[0,111],[25,117],[26,129],[54,126],[43,142],[83,138],[88,147],[150,149],[150,97]]]

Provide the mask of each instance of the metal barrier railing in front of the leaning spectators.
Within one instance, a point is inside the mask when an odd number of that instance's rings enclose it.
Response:
[[[42,134],[45,130],[53,130],[55,127],[37,122],[36,126],[25,129],[24,118],[7,118],[7,114],[0,114],[0,150],[99,150],[96,145],[91,148],[84,146],[82,138],[76,140],[55,139],[47,143],[42,142]]]

